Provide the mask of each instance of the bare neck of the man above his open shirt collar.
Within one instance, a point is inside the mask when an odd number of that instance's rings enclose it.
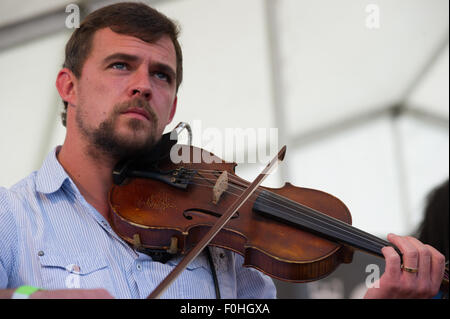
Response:
[[[67,140],[64,142],[57,155],[58,161],[84,199],[110,221],[108,192],[115,161],[86,146],[71,144]]]

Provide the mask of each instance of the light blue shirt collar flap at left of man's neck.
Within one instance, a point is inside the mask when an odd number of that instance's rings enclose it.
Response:
[[[55,147],[45,158],[42,167],[37,172],[36,190],[44,194],[50,194],[59,190],[66,179],[69,179],[64,168],[59,163],[56,155],[61,146]]]

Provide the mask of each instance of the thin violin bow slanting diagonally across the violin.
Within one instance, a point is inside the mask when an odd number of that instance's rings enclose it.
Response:
[[[178,275],[186,269],[189,263],[194,260],[203,249],[208,246],[211,240],[216,236],[216,234],[225,226],[225,224],[230,220],[234,213],[241,208],[241,206],[247,201],[247,199],[255,192],[258,186],[263,182],[263,180],[273,171],[278,164],[284,159],[286,154],[286,145],[283,146],[278,152],[277,156],[270,161],[269,164],[264,168],[264,170],[259,174],[255,180],[250,184],[249,187],[239,196],[239,198],[227,209],[227,211],[217,220],[213,227],[208,231],[208,233],[194,246],[186,256],[178,263],[178,265],[172,269],[172,271],[164,278],[160,284],[152,291],[152,293],[147,297],[147,299],[156,299],[161,296],[161,294],[169,287],[169,285],[178,277]]]

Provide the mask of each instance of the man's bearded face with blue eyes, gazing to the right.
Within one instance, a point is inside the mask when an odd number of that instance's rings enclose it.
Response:
[[[77,81],[79,131],[116,160],[148,150],[175,113],[175,72],[169,37],[147,43],[98,30]]]

